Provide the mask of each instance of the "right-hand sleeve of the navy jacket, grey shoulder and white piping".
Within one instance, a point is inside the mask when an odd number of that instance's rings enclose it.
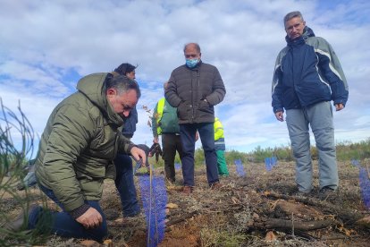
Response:
[[[319,45],[315,52],[319,57],[319,67],[324,79],[329,82],[332,89],[333,103],[345,106],[349,98],[349,87],[341,63],[332,46],[324,38],[318,40]]]

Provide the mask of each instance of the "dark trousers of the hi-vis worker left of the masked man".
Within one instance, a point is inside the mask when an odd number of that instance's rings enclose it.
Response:
[[[169,181],[175,182],[174,159],[176,156],[176,150],[179,153],[180,158],[182,159],[183,157],[180,134],[162,133],[162,149],[165,177]]]

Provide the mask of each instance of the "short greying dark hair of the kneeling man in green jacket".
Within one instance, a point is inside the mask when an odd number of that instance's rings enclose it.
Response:
[[[139,84],[121,74],[114,76],[112,73],[108,73],[105,79],[105,89],[116,89],[119,94],[125,93],[130,89],[134,89],[136,90],[138,98],[141,96]]]

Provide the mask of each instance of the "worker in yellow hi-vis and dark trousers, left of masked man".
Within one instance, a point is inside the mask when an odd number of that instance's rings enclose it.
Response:
[[[164,83],[164,90],[167,82]],[[164,159],[164,172],[167,181],[174,183],[175,168],[174,159],[176,150],[182,158],[182,145],[180,138],[180,126],[177,118],[176,108],[171,106],[165,98],[159,99],[152,118],[152,131],[154,140],[158,143],[158,136],[162,135],[162,150]]]

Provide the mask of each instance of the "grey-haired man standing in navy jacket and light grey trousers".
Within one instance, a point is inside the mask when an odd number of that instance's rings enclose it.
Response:
[[[283,121],[283,109],[286,110],[297,161],[296,183],[303,194],[313,189],[310,125],[319,156],[320,194],[325,195],[336,191],[339,183],[331,101],[336,111],[341,111],[349,97],[348,85],[331,45],[315,37],[301,13],[288,13],[284,26],[287,47],[277,56],[273,73],[273,113]]]

